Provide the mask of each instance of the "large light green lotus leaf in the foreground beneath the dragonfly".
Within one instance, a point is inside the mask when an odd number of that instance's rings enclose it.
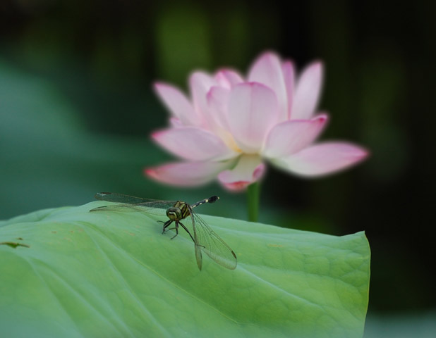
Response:
[[[37,211],[0,223],[5,337],[362,337],[370,249],[344,237],[204,217],[238,256],[227,270],[159,217]],[[162,218],[161,218],[162,220]],[[186,223],[186,225],[188,222]]]

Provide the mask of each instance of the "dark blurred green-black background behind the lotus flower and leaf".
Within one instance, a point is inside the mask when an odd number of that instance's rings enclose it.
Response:
[[[116,191],[188,201],[219,194],[220,206],[206,213],[246,219],[243,194],[143,177],[145,166],[171,159],[150,142],[168,118],[152,82],[186,89],[195,69],[246,73],[267,49],[298,69],[321,59],[320,108],[331,116],[322,139],[372,154],[317,180],[270,168],[260,221],[337,235],[365,230],[366,336],[436,332],[436,3],[145,2],[0,1],[0,218]]]

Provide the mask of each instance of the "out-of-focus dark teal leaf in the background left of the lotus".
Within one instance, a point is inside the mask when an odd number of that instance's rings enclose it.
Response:
[[[143,137],[87,130],[51,82],[0,58],[0,218],[38,208],[83,204],[99,190],[160,198],[166,188],[143,168],[168,158]]]

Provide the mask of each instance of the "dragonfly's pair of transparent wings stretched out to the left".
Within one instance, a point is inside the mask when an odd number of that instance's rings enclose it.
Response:
[[[119,211],[123,213],[134,213],[138,211],[165,215],[166,209],[174,206],[176,201],[159,201],[158,199],[143,199],[141,197],[116,194],[114,192],[98,192],[95,198],[100,201],[114,202],[110,206],[99,206],[90,211]]]

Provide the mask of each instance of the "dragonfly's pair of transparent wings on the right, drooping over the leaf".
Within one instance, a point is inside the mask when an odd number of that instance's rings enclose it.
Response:
[[[194,239],[195,239],[195,258],[197,258],[198,268],[202,267],[202,251],[212,258],[219,265],[234,270],[238,261],[234,251],[219,237],[200,216],[192,213]]]

